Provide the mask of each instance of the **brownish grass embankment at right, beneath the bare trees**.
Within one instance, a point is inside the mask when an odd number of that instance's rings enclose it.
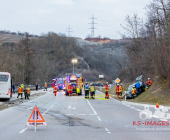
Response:
[[[123,88],[124,91],[127,91],[129,85],[132,83],[124,83]],[[109,94],[113,98],[122,101],[123,99],[118,99],[116,95],[116,87],[110,88]],[[101,90],[100,90],[101,91]],[[102,92],[105,92],[102,89]],[[154,82],[153,85],[146,90],[145,92],[141,93],[138,97],[134,99],[127,99],[129,102],[136,102],[136,103],[146,103],[146,104],[153,104],[159,103],[160,105],[170,106],[170,88],[168,87],[168,83],[165,79],[161,79],[158,82]]]

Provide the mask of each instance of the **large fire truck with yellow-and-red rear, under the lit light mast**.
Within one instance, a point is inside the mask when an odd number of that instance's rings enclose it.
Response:
[[[83,79],[82,74],[67,74],[65,77],[66,96],[69,95],[68,86],[73,86],[73,93],[82,95]]]

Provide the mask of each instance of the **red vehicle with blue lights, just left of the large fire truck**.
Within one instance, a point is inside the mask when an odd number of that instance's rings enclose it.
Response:
[[[55,78],[51,81],[51,86],[52,88],[55,87],[55,85],[57,85],[58,90],[65,90],[65,82],[64,82],[65,78]]]

